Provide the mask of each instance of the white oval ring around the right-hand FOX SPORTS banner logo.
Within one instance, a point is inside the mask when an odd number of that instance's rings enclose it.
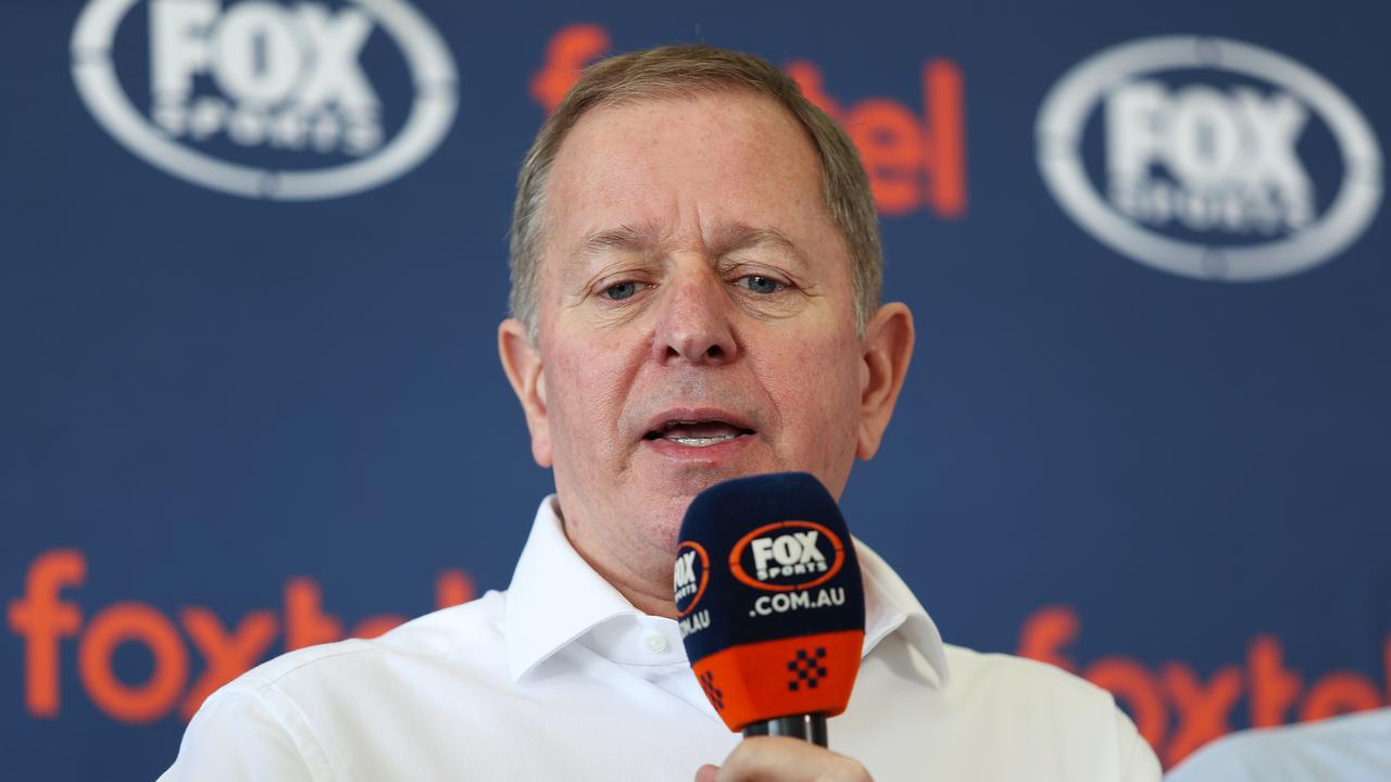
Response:
[[[1082,167],[1085,121],[1109,92],[1132,78],[1181,68],[1255,77],[1284,86],[1313,107],[1333,131],[1344,164],[1338,195],[1323,217],[1288,238],[1231,248],[1170,239],[1136,225],[1102,200]],[[1224,38],[1148,38],[1088,57],[1049,90],[1034,135],[1043,181],[1072,220],[1113,250],[1185,277],[1249,282],[1303,271],[1359,239],[1381,205],[1380,146],[1356,106],[1295,60]]]

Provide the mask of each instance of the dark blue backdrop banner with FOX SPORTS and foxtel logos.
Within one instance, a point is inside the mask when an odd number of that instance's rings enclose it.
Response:
[[[1388,22],[8,0],[6,776],[154,778],[257,661],[506,586],[549,490],[494,346],[517,164],[672,42],[860,146],[919,346],[846,516],[949,641],[1109,687],[1168,767],[1388,704]]]

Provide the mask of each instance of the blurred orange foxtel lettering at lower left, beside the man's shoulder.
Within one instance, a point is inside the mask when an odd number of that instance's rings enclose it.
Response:
[[[321,607],[314,579],[285,582],[282,618],[273,611],[249,611],[227,626],[213,609],[179,608],[178,619],[146,603],[117,601],[83,616],[82,607],[63,600],[63,590],[86,580],[88,559],[72,548],[40,552],[29,565],[24,596],[8,603],[10,630],[24,639],[25,707],[33,717],[58,715],[58,672],[64,639],[77,639],[78,678],[88,697],[108,717],[143,724],[178,710],[188,719],[203,699],[268,657],[277,633],[285,651],[339,640],[344,625]],[[463,570],[444,570],[435,577],[435,605],[448,608],[473,600],[473,582]],[[373,637],[403,623],[405,616],[369,616],[349,635]],[[179,633],[182,628],[184,635]],[[186,641],[185,641],[186,636]],[[189,648],[203,658],[203,671],[189,685]],[[147,680],[121,680],[113,668],[115,650],[125,644],[145,647],[154,661]]]

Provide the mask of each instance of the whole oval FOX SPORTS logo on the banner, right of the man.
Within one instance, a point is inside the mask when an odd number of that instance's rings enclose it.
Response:
[[[1308,67],[1235,40],[1095,54],[1049,92],[1035,135],[1072,220],[1185,277],[1303,271],[1352,245],[1381,203],[1381,152],[1358,107]]]

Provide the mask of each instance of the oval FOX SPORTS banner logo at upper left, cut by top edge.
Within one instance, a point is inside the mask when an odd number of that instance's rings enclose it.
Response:
[[[107,132],[152,166],[282,200],[405,174],[458,104],[444,39],[403,0],[90,0],[72,78]]]

